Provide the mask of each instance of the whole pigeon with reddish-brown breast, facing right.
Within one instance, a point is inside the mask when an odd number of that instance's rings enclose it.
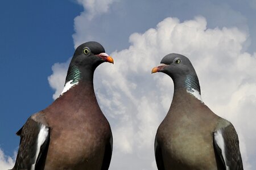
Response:
[[[76,48],[61,95],[16,133],[20,144],[13,170],[109,168],[112,131],[93,87],[94,70],[104,62],[114,63],[100,43]]]

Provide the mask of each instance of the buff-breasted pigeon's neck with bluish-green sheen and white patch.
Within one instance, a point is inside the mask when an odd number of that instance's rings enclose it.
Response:
[[[178,78],[177,80],[174,80],[174,95],[180,88],[184,88],[189,95],[196,97],[196,99],[203,103],[197,75],[187,75],[184,76],[184,78]]]

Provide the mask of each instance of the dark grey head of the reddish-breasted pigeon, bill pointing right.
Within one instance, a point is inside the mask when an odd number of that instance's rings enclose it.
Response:
[[[80,80],[92,80],[94,70],[103,62],[114,63],[113,58],[105,53],[103,46],[95,41],[79,45],[68,68],[66,83]]]

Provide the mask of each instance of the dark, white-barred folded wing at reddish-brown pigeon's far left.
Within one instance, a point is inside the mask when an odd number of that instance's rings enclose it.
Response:
[[[16,133],[20,136],[19,151],[13,169],[32,169],[40,164],[42,154],[46,155],[49,142],[49,127],[42,122],[28,118]]]

